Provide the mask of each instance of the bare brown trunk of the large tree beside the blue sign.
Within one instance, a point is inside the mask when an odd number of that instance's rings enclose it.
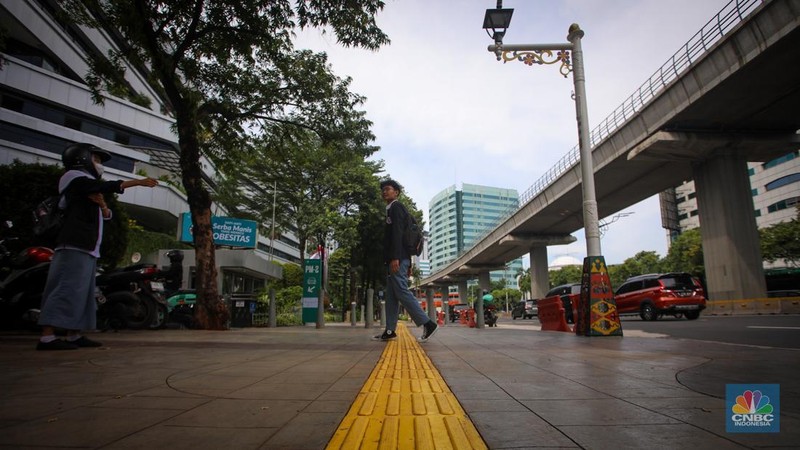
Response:
[[[187,108],[188,109],[188,108]],[[197,139],[195,114],[184,109],[176,114],[181,148],[183,186],[192,215],[192,236],[195,248],[195,286],[197,310],[195,324],[204,330],[228,329],[230,312],[217,288],[217,264],[211,229],[211,196],[203,185],[200,167],[200,144]],[[183,114],[182,114],[183,113]]]

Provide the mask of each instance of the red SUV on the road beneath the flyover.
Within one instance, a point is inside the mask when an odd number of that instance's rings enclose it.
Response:
[[[706,296],[700,282],[688,273],[639,275],[628,278],[614,294],[620,314],[639,313],[642,320],[656,320],[662,314],[689,320],[700,317]]]

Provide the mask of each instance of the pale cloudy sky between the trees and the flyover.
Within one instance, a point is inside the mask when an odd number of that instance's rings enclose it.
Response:
[[[378,26],[391,43],[347,49],[331,33],[307,30],[296,46],[328,54],[332,70],[373,122],[373,159],[425,214],[434,195],[462,183],[522,194],[577,145],[572,77],[557,65],[497,61],[482,29],[496,0],[386,0]],[[594,129],[697,33],[728,0],[505,0],[514,8],[504,43],[582,40],[589,128]],[[605,229],[602,254],[620,264],[640,251],[667,254],[658,196],[620,211]],[[611,217],[601,218],[610,222]],[[426,226],[427,227],[427,226]],[[548,260],[586,256],[577,241],[548,248]],[[524,261],[527,267],[527,258]]]

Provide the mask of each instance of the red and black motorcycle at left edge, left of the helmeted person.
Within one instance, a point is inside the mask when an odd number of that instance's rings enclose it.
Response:
[[[13,227],[0,224],[3,234]],[[0,238],[0,324],[6,327],[34,328],[39,321],[44,285],[53,259],[47,247],[28,247],[18,253],[8,246],[16,238]]]

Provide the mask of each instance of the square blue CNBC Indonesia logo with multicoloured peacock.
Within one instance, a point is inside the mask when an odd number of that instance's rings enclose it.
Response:
[[[777,384],[728,384],[726,430],[729,433],[780,431],[780,388]]]

